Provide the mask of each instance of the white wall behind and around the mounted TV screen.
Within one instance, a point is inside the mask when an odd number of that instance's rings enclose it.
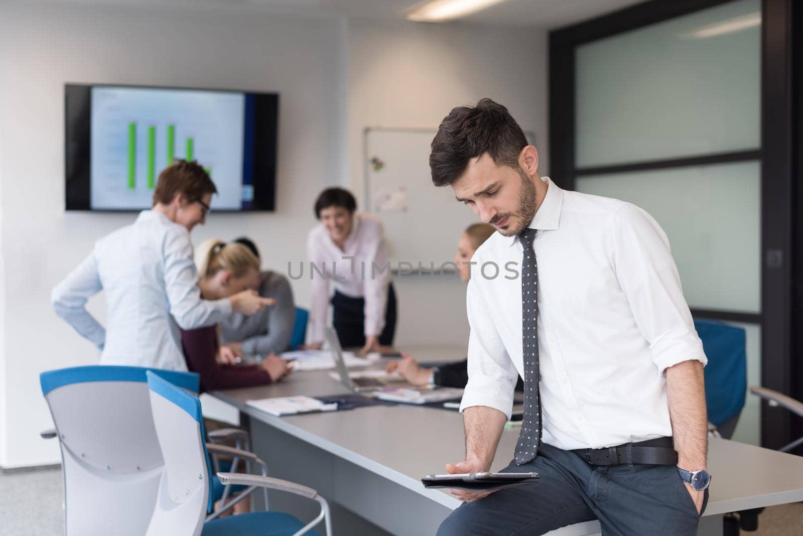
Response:
[[[7,404],[0,417],[0,465],[59,460],[56,443],[37,436],[51,425],[39,372],[96,363],[98,355],[52,313],[50,291],[97,238],[135,217],[64,212],[63,84],[278,91],[277,212],[212,213],[194,241],[247,234],[268,265],[286,270],[287,260],[305,256],[314,222],[310,197],[344,181],[345,30],[339,18],[3,5],[0,67],[10,75],[0,89],[6,267],[0,399]],[[308,285],[295,290],[300,303],[308,303]],[[92,306],[103,316],[102,298]]]

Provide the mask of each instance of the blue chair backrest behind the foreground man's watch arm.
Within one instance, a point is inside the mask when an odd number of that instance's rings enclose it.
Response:
[[[723,424],[740,414],[747,396],[744,329],[706,319],[695,319],[695,329],[708,358],[704,369],[708,420]]]

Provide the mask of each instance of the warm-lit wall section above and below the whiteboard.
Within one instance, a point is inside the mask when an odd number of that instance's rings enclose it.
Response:
[[[547,174],[546,39],[544,31],[522,28],[349,21],[349,184],[354,193],[362,193],[365,127],[435,129],[451,108],[483,97],[507,106],[524,130],[535,132],[539,171]],[[444,258],[453,253],[444,252]],[[397,277],[395,286],[397,343],[467,345],[463,282],[406,276]]]

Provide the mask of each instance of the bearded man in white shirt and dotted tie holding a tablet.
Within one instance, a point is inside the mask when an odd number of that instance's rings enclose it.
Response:
[[[524,422],[504,472],[540,485],[466,501],[442,536],[544,534],[597,518],[602,534],[696,534],[707,501],[706,357],[666,234],[629,203],[564,191],[490,99],[454,108],[432,179],[496,226],[471,259],[466,459],[491,470],[524,378]],[[499,470],[499,468],[493,468]]]

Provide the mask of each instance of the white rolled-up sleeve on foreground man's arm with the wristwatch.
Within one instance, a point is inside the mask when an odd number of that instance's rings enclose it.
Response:
[[[657,221],[634,205],[623,205],[614,214],[613,264],[659,372],[690,359],[705,365],[669,239]]]

